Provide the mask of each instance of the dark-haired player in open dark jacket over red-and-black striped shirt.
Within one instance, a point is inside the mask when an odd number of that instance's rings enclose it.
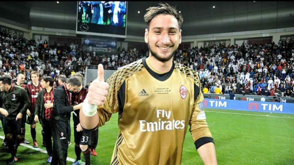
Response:
[[[37,103],[36,103],[36,110],[34,112],[34,121],[40,121],[42,126],[42,130],[44,132],[43,141],[46,143],[46,150],[49,156],[47,163],[51,163],[53,149],[52,149],[52,132],[49,124],[50,114],[53,110],[53,88],[54,80],[51,76],[44,76],[41,79],[41,86],[42,90],[40,91]]]

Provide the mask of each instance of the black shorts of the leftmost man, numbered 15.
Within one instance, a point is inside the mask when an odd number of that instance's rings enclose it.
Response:
[[[25,124],[22,119],[15,121],[7,120],[6,117],[3,117],[3,130],[5,134],[13,134],[16,131],[16,135],[24,135],[25,133]]]

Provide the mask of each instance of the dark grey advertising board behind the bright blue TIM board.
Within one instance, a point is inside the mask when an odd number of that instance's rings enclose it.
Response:
[[[219,99],[219,100],[230,100],[229,94],[214,94],[214,93],[204,93],[204,98],[210,99]],[[243,100],[243,101],[261,101],[265,102],[284,102],[284,103],[294,103],[293,97],[280,97],[277,98],[275,96],[259,96],[259,95],[237,95],[235,94],[235,100]]]

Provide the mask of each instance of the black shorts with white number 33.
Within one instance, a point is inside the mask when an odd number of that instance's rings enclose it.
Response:
[[[93,141],[93,133],[92,131],[88,131],[83,129],[81,132],[76,131],[76,126],[78,123],[74,122],[74,142],[76,144],[81,144],[81,145],[89,145]]]

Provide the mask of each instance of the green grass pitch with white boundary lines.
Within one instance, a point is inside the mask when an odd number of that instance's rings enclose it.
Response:
[[[205,111],[216,144],[218,164],[294,164],[294,115],[216,109],[205,109]],[[26,130],[26,139],[32,142],[28,124]],[[96,148],[98,156],[91,156],[91,164],[110,164],[117,134],[117,114],[115,114],[99,129]],[[71,135],[73,143],[73,131]],[[4,136],[3,129],[0,129],[0,136]],[[37,141],[39,148],[46,150],[45,147],[41,147],[40,124],[37,124]],[[5,164],[9,157],[10,154],[0,146],[0,164]],[[68,157],[76,158],[74,143],[69,146]],[[18,165],[38,165],[46,164],[48,156],[40,151],[20,146],[18,158],[19,162],[16,163]],[[82,161],[84,161],[83,156]],[[68,161],[68,164],[71,163]],[[189,131],[184,142],[182,164],[203,164]]]

